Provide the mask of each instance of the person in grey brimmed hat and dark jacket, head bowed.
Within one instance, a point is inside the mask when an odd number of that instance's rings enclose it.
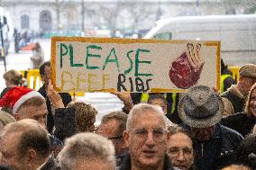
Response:
[[[193,139],[197,169],[219,170],[235,163],[233,153],[243,138],[219,123],[223,112],[221,97],[206,85],[190,87],[178,103],[182,127]]]

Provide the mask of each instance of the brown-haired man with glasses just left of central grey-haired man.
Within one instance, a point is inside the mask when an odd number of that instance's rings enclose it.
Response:
[[[123,131],[126,129],[127,114],[124,112],[111,112],[106,114],[96,130],[97,134],[110,139],[114,144],[116,164],[120,166],[128,147],[123,141]]]

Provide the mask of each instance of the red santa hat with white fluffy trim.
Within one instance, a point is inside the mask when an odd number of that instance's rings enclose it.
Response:
[[[23,86],[14,86],[7,91],[7,93],[0,99],[0,106],[13,109],[13,114],[18,111],[18,109],[33,97],[44,97],[31,88]]]

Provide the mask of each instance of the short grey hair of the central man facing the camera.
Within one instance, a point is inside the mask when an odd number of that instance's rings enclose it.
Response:
[[[131,130],[131,125],[133,122],[133,117],[146,114],[147,111],[154,112],[155,114],[159,114],[162,120],[164,121],[164,127],[167,130],[167,119],[164,115],[164,112],[158,105],[151,105],[149,103],[139,103],[133,106],[132,110],[128,114],[128,119],[126,122],[126,130]]]

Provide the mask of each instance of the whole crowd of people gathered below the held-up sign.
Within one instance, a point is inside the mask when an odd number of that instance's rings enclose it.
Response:
[[[223,93],[195,85],[180,95],[179,123],[167,114],[165,94],[136,103],[114,92],[123,111],[95,127],[91,104],[54,91],[49,61],[38,92],[9,70],[0,97],[0,170],[254,170],[256,65],[239,73]]]

